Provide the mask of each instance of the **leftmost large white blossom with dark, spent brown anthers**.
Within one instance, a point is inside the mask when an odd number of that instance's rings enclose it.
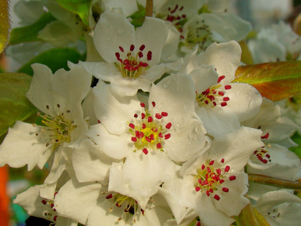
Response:
[[[60,69],[54,74],[42,64],[32,67],[34,76],[26,96],[45,113],[37,113],[42,125],[17,121],[9,128],[0,146],[0,165],[27,164],[28,170],[32,170],[35,165],[42,168],[51,158],[51,171],[40,186],[40,194],[51,199],[58,178],[67,170],[71,152],[67,146],[88,130],[81,102],[88,94],[92,76],[79,67],[70,71]]]

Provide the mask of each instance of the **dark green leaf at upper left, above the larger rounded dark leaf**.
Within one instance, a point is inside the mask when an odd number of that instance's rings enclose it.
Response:
[[[48,23],[56,20],[51,13],[43,14],[36,23],[25,26],[18,27],[11,31],[11,37],[9,39],[10,45],[16,45],[22,42],[36,42],[41,39],[38,38],[38,33],[42,30]]]

